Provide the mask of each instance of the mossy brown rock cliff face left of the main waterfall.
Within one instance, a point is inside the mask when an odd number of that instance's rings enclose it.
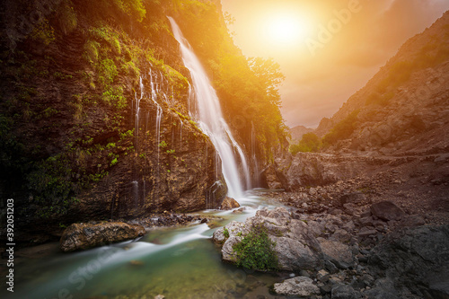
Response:
[[[6,1],[2,18],[0,195],[21,224],[219,207],[226,186],[189,117],[170,4],[145,2],[141,19],[115,4],[44,2]]]

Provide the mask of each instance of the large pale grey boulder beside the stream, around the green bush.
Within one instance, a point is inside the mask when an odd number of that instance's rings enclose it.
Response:
[[[244,224],[232,222],[214,233],[215,242],[223,243],[222,259],[235,263],[233,246],[251,231],[251,227],[263,225],[271,241],[276,242],[274,251],[278,268],[287,271],[314,269],[322,266],[320,243],[303,221],[292,218],[284,207],[263,209],[246,220]]]

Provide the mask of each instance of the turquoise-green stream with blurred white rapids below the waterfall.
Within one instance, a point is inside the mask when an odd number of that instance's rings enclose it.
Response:
[[[201,214],[223,218],[218,221],[223,226],[244,221],[261,207],[279,206],[251,193],[239,201],[245,207],[241,214],[216,210]],[[211,241],[215,230],[207,224],[154,229],[135,242],[25,261],[14,269],[15,291],[6,298],[272,297],[269,286],[281,277],[223,263]]]

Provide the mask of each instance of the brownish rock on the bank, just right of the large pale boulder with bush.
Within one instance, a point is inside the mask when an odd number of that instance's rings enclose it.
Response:
[[[318,238],[324,259],[330,260],[338,268],[349,268],[354,264],[354,257],[349,246],[337,241]]]

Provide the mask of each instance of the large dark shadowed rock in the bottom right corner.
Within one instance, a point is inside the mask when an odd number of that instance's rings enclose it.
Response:
[[[374,248],[369,264],[392,277],[395,285],[449,296],[449,225],[419,226],[388,235]]]

